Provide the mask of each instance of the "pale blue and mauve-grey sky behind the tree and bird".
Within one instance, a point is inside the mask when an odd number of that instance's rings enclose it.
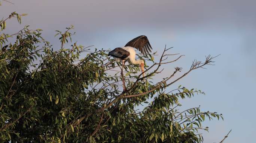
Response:
[[[206,95],[180,101],[182,108],[201,106],[201,111],[222,113],[224,121],[205,121],[210,131],[204,142],[255,142],[254,88],[256,86],[256,1],[255,0],[10,0],[0,6],[0,16],[13,11],[28,13],[22,24],[7,21],[6,33],[24,25],[43,29],[43,37],[60,48],[55,30],[74,25],[78,44],[113,49],[139,35],[146,35],[154,51],[165,44],[169,54],[185,56],[165,66],[166,77],[174,67],[189,70],[194,59],[218,55],[215,66],[192,71],[170,89],[182,85],[203,90]],[[11,28],[10,28],[11,27]],[[159,57],[156,57],[158,59]],[[176,57],[170,57],[175,59]],[[175,76],[177,78],[179,75]]]

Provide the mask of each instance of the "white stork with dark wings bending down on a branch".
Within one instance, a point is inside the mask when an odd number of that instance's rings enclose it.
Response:
[[[141,35],[129,41],[124,47],[115,48],[114,50],[110,51],[108,54],[108,56],[114,57],[114,59],[117,62],[122,62],[121,76],[122,76],[124,91],[126,91],[126,87],[125,87],[123,69],[124,69],[124,64],[126,60],[129,59],[129,61],[134,65],[140,65],[140,69],[144,77],[144,60],[135,60],[136,52],[134,48],[139,50],[143,55],[149,54],[149,52],[151,52],[152,50],[152,47],[149,43],[149,40],[147,39],[147,36]]]

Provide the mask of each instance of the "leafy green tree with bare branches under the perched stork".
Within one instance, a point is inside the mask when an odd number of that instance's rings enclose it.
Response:
[[[21,16],[13,12],[0,21]],[[139,67],[125,66],[127,92],[119,86],[120,66],[107,57],[108,50],[92,51],[72,42],[70,31],[56,31],[61,48],[53,46],[41,36],[41,29],[29,26],[16,34],[0,35],[0,140],[2,142],[166,142],[199,143],[200,130],[207,130],[205,118],[222,118],[216,112],[201,112],[200,107],[179,111],[179,100],[204,94],[201,90],[186,89],[173,83],[193,70],[213,62],[210,55],[204,62],[194,60],[189,71],[174,79],[182,68],[163,80],[153,83],[153,76],[161,73],[170,48],[164,48],[161,59],[146,60],[145,77]],[[14,41],[14,42],[8,42]],[[67,48],[67,43],[70,48]],[[86,55],[83,53],[87,53]],[[83,56],[85,55],[85,56]],[[175,55],[175,54],[174,54]],[[110,61],[110,62],[109,62]],[[149,103],[149,100],[153,101]],[[144,109],[135,110],[138,107]]]

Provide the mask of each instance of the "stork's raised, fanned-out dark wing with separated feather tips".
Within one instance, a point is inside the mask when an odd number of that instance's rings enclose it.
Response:
[[[150,49],[152,49],[151,45],[149,44],[149,40],[145,35],[141,35],[132,39],[125,46],[134,47],[142,54],[149,54],[149,52],[151,52]]]

